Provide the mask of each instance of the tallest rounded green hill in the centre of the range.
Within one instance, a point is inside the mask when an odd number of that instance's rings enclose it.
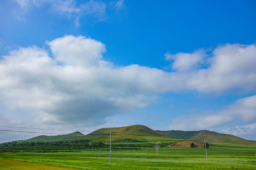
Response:
[[[155,142],[174,140],[143,125],[101,128],[77,139],[109,142],[110,132],[113,134],[113,142]]]

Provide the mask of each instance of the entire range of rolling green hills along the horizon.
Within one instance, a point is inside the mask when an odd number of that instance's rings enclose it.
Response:
[[[27,142],[53,142],[62,140],[90,140],[91,142],[109,142],[110,132],[112,132],[112,142],[174,142],[177,140],[192,140],[203,142],[204,138],[209,143],[222,143],[222,144],[243,144],[243,145],[256,145],[256,141],[246,140],[237,136],[220,134],[209,130],[199,131],[181,131],[181,130],[152,130],[143,125],[133,125],[126,127],[110,127],[101,128],[91,132],[88,135],[83,135],[80,132],[74,132],[67,135],[57,136],[37,136],[27,140]],[[22,142],[22,141],[17,141]]]

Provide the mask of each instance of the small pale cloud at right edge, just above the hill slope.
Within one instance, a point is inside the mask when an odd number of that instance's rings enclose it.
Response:
[[[221,130],[223,133],[231,134],[234,136],[251,136],[251,140],[256,140],[256,123],[249,125],[229,127]]]

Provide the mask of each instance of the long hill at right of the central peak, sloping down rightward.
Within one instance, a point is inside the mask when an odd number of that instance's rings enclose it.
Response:
[[[194,140],[194,141],[203,142],[204,138],[206,138],[207,142],[209,143],[256,144],[256,141],[246,140],[246,139],[233,136],[233,135],[228,135],[228,134],[220,134],[220,133],[209,131],[209,130],[199,130],[199,131],[156,130],[156,132],[159,132],[171,138],[183,139],[183,140]]]

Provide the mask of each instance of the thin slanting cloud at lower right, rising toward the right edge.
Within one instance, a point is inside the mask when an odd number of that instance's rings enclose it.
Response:
[[[173,119],[168,129],[191,130],[218,127],[229,123],[239,116],[244,121],[256,120],[256,95],[238,99],[219,111],[207,111],[199,114],[180,116]]]

